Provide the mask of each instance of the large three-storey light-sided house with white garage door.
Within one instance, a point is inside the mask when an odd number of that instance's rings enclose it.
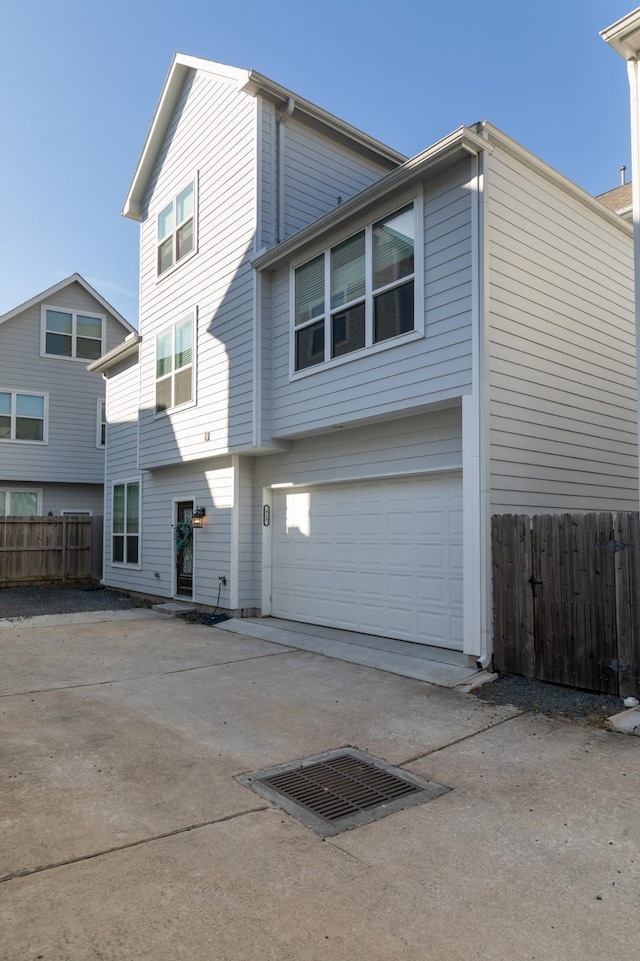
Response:
[[[124,214],[107,584],[486,663],[491,515],[636,507],[631,228],[490,124],[406,160],[178,56]]]

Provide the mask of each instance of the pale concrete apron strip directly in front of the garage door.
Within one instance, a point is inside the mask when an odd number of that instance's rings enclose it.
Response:
[[[478,673],[464,665],[464,655],[454,651],[425,650],[423,645],[393,638],[315,627],[280,618],[234,617],[217,627],[222,631],[257,637],[273,644],[335,657],[339,661],[350,661],[363,667],[374,667],[440,687],[456,687],[469,682]],[[429,654],[433,656],[429,657]]]

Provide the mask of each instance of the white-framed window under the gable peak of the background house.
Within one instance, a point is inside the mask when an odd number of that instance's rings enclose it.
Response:
[[[42,307],[40,353],[64,360],[97,360],[104,353],[105,314]]]

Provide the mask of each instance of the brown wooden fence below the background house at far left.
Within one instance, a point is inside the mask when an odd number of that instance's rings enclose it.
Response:
[[[0,587],[102,577],[102,517],[0,518]]]

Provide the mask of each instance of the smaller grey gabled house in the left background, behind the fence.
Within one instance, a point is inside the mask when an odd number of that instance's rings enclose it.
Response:
[[[0,517],[102,513],[105,386],[87,365],[132,332],[79,274],[0,316]]]

